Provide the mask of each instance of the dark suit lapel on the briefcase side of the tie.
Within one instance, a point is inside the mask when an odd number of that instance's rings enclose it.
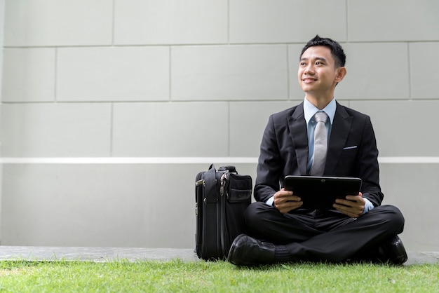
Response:
[[[301,175],[306,175],[308,163],[308,134],[304,118],[303,102],[299,104],[291,116],[288,116],[288,128],[292,138],[292,144],[296,151],[297,166]],[[295,168],[292,166],[292,170]]]

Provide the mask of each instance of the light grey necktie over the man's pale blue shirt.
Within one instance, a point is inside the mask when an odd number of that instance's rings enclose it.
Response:
[[[325,123],[327,115],[325,112],[317,112],[314,115],[317,125],[314,130],[314,161],[311,166],[311,175],[321,176],[325,170],[326,153],[327,153],[327,132]]]

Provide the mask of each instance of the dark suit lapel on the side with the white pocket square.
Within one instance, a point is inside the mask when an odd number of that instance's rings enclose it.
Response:
[[[324,175],[333,174],[339,157],[342,155],[343,148],[346,145],[346,139],[348,139],[351,130],[352,119],[353,117],[349,116],[346,110],[337,102],[330,142],[327,147]]]

